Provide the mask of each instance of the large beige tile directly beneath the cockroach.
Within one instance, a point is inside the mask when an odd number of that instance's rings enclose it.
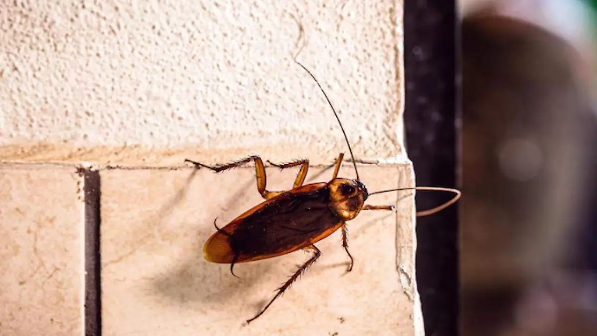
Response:
[[[401,200],[398,216],[363,212],[349,222],[351,273],[338,231],[317,244],[321,259],[284,297],[246,325],[308,256],[295,252],[236,265],[241,279],[229,265],[205,261],[202,245],[215,231],[214,218],[223,226],[261,198],[252,169],[200,170],[193,178],[191,172],[101,173],[104,335],[415,334],[414,207],[407,192],[368,200]],[[296,170],[268,172],[268,187],[278,190],[292,184]],[[350,166],[341,173],[350,175]],[[412,183],[407,165],[362,167],[361,175],[370,191]],[[330,176],[327,170],[316,181]]]

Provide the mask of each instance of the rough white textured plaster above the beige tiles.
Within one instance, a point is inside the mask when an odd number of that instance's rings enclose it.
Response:
[[[394,0],[2,0],[0,160],[328,163],[345,145],[292,61],[304,41],[358,156],[398,157],[401,18]]]

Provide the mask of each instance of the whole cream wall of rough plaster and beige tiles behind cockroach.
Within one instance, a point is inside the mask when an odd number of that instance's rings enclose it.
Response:
[[[79,2],[0,4],[0,335],[414,335],[412,193],[349,222],[304,262],[235,268],[202,245],[261,201],[247,154],[310,159],[328,181],[346,144],[370,191],[411,187],[402,143],[402,4]],[[296,169],[267,169],[272,190]],[[341,176],[352,178],[350,164]]]

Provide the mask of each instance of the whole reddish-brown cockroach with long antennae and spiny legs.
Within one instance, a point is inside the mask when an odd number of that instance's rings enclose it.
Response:
[[[185,163],[193,164],[196,169],[201,167],[211,169],[216,173],[239,167],[253,161],[257,175],[257,190],[265,199],[252,209],[247,210],[224,227],[216,227],[214,233],[205,242],[203,249],[204,257],[207,261],[217,264],[230,264],[230,273],[236,277],[233,268],[239,262],[250,262],[261,259],[274,258],[298,250],[312,252],[312,256],[280,287],[276,295],[269,303],[254,317],[247,320],[250,323],[261,316],[273,301],[284,294],[293,282],[303,274],[307,268],[317,261],[321,256],[321,251],[315,246],[315,243],[336,230],[342,230],[342,247],[350,258],[350,266],[347,271],[351,271],[354,259],[348,251],[346,222],[355,219],[361,210],[394,210],[394,205],[371,205],[365,204],[368,197],[375,194],[389,193],[391,191],[401,190],[433,190],[448,191],[455,193],[450,201],[430,210],[417,212],[417,216],[431,215],[445,207],[455,203],[460,198],[460,191],[453,188],[441,187],[411,187],[396,188],[389,190],[376,191],[369,193],[365,185],[359,179],[359,172],[356,168],[355,157],[350,147],[350,142],[340,122],[340,118],[334,106],[332,105],[324,89],[319,84],[315,76],[305,68],[301,63],[295,60],[317,83],[319,89],[327,99],[340,129],[346,140],[346,145],[355,167],[356,179],[338,178],[338,172],[344,158],[344,153],[340,153],[334,164],[334,173],[330,182],[318,182],[303,185],[309,169],[309,160],[295,160],[289,163],[275,164],[269,160],[268,164],[286,169],[289,167],[300,166],[298,175],[294,180],[294,185],[288,191],[269,191],[266,189],[266,171],[263,161],[259,155],[251,155],[228,164],[217,164],[216,166],[207,166],[205,164],[185,160]],[[216,218],[217,220],[217,218]]]

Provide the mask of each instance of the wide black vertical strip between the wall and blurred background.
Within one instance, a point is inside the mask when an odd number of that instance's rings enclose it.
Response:
[[[404,4],[405,142],[417,185],[457,187],[455,0]],[[417,209],[443,200],[417,193]],[[417,286],[426,335],[458,334],[458,206],[417,219]]]

